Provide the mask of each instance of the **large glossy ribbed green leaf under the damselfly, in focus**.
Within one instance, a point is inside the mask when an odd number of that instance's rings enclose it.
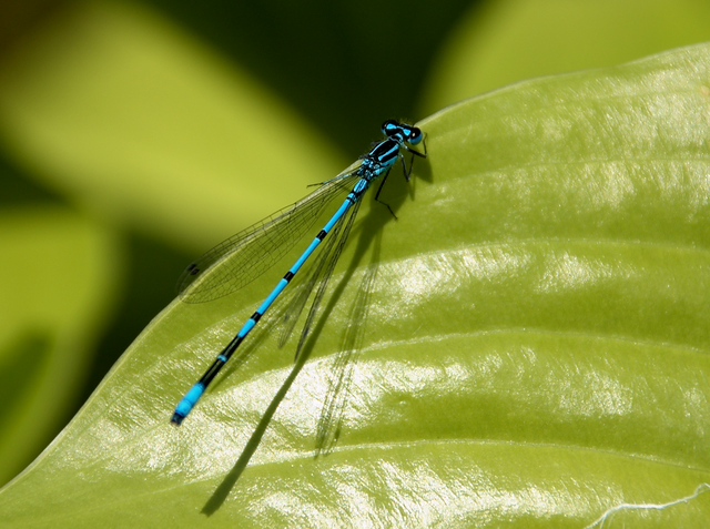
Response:
[[[171,427],[297,252],[173,303],[3,489],[4,526],[701,526],[709,80],[700,45],[425,120],[398,221],[371,193],[295,365],[276,309]]]

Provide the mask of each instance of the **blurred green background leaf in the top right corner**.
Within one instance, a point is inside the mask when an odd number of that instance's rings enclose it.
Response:
[[[621,64],[710,40],[702,0],[494,0],[448,34],[422,112],[539,75]]]

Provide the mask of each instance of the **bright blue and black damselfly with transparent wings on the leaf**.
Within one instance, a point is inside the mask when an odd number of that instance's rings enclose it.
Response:
[[[217,355],[202,378],[180,400],[171,420],[173,424],[180,425],[190,414],[206,387],[246,338],[246,335],[311,257],[315,248],[333,232],[314,263],[305,287],[294,299],[293,316],[295,317],[293,317],[292,322],[295,324],[320,278],[318,289],[311,304],[306,324],[296,348],[297,357],[325,293],[328,278],[335,268],[353,222],[357,216],[363,195],[372,183],[382,176],[382,183],[375,195],[375,200],[379,200],[379,192],[397,160],[402,161],[404,175],[409,181],[414,156],[426,157],[426,143],[423,143],[424,152],[418,152],[409,146],[423,141],[422,131],[416,126],[388,120],[383,123],[382,132],[385,135],[385,140],[377,143],[367,154],[362,156],[359,164],[332,180],[322,182],[318,184],[320,187],[305,199],[227,238],[187,266],[179,283],[182,299],[189,303],[201,303],[231,294],[271,268],[313,226],[325,206],[338,194],[345,193],[346,189],[351,189],[343,204],[323,226],[323,230],[301,257],[286,272],[256,312],[246,321],[232,342]],[[402,150],[412,153],[409,167],[407,167]],[[387,207],[389,208],[388,205]],[[389,211],[392,212],[392,208]],[[394,212],[392,214],[394,215]]]

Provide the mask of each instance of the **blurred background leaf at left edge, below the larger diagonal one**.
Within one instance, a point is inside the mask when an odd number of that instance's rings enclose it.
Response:
[[[0,472],[6,479],[63,426],[98,334],[115,311],[121,247],[60,206],[0,212]]]

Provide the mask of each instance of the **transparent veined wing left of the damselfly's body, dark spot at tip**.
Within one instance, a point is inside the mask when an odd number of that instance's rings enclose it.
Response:
[[[191,263],[178,281],[186,303],[204,303],[226,296],[271,268],[303,235],[335,197],[349,191],[359,177],[353,164],[295,204],[267,216],[217,244]]]

